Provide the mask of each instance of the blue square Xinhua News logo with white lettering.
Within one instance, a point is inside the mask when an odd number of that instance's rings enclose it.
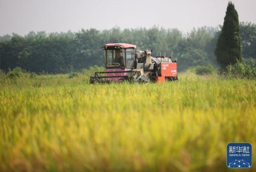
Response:
[[[250,168],[253,162],[252,156],[250,143],[227,144],[227,166],[229,168]]]

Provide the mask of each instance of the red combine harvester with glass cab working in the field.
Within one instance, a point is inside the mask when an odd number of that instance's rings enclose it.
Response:
[[[176,81],[177,61],[172,61],[172,51],[137,50],[136,45],[112,43],[102,46],[105,71],[94,72],[90,83],[108,82],[165,82]]]

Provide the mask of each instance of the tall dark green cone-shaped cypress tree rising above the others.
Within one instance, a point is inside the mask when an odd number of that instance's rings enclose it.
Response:
[[[228,3],[224,24],[215,47],[215,56],[221,68],[241,60],[241,37],[238,13],[232,2]]]

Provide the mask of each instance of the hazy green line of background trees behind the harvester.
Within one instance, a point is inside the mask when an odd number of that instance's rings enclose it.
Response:
[[[221,28],[221,26],[220,26]],[[194,28],[188,33],[178,29],[152,28],[99,31],[81,29],[76,33],[29,32],[0,37],[0,69],[8,71],[20,67],[30,72],[67,73],[103,65],[101,47],[106,43],[125,42],[137,49],[172,50],[179,71],[198,65],[218,67],[214,54],[221,31],[219,28]],[[240,23],[242,59],[256,61],[256,25]]]

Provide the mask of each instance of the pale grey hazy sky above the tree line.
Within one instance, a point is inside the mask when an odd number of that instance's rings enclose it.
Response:
[[[0,0],[0,36],[29,31],[222,25],[229,0]],[[256,0],[232,0],[239,21],[256,23]]]

